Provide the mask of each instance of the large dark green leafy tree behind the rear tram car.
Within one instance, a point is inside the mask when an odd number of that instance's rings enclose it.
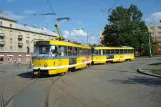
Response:
[[[142,12],[133,4],[129,8],[116,7],[108,17],[109,24],[104,28],[103,44],[106,46],[132,46],[136,51],[148,54],[150,33],[141,19],[142,16]],[[151,36],[150,41],[152,43]]]

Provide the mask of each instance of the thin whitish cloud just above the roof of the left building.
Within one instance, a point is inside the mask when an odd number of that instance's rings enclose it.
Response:
[[[8,17],[11,17],[11,18],[13,18],[15,20],[22,20],[22,19],[25,18],[24,16],[16,15],[15,13],[13,13],[10,10],[3,11],[3,14],[6,15],[6,16],[8,16]]]

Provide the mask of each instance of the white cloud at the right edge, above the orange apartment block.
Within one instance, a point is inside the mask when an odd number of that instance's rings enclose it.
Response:
[[[148,18],[145,19],[145,21],[148,24],[160,24],[160,20],[161,20],[161,12],[153,13]]]

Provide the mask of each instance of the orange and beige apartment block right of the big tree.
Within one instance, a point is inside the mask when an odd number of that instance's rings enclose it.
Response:
[[[161,54],[161,25],[148,26],[154,42],[154,54]]]

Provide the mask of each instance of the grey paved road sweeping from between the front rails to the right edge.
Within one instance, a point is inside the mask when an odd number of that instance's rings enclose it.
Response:
[[[10,107],[44,107],[48,94],[48,107],[160,107],[161,79],[136,71],[158,61],[161,58],[94,65],[54,83],[57,77],[41,78],[20,91]]]

